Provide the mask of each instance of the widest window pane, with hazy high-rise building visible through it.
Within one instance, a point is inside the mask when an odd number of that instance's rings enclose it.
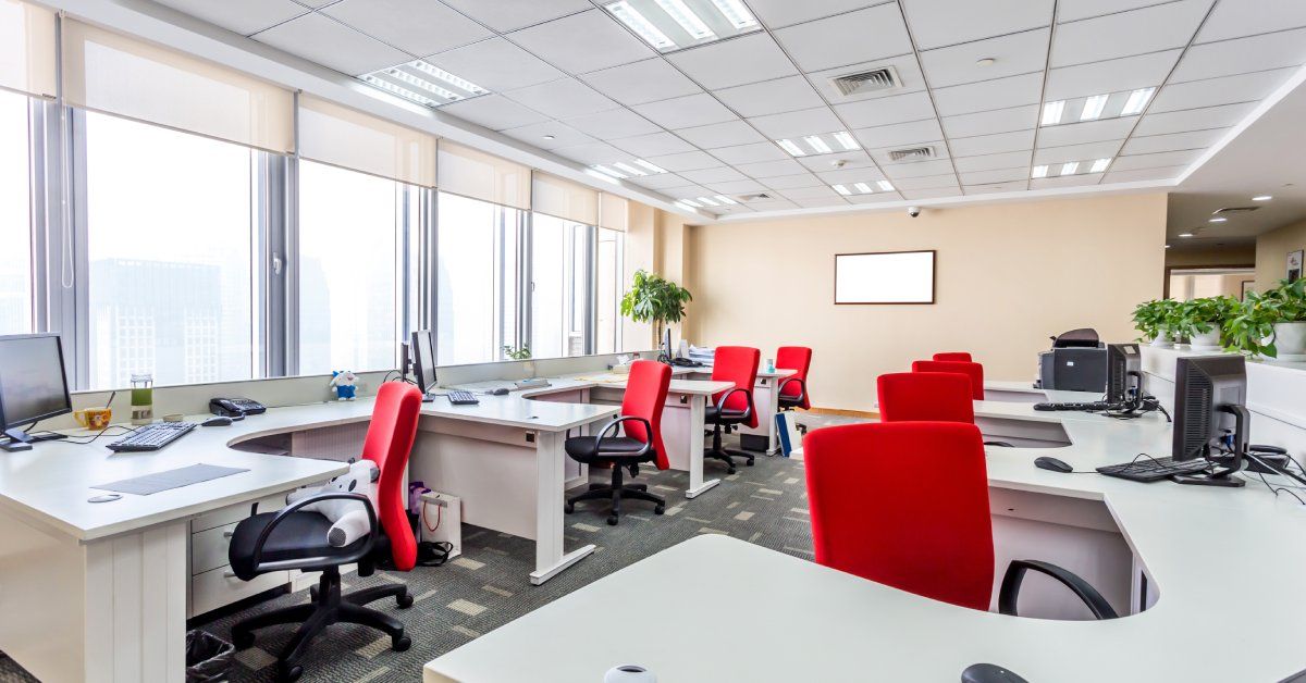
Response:
[[[256,154],[86,114],[91,389],[253,376]]]

